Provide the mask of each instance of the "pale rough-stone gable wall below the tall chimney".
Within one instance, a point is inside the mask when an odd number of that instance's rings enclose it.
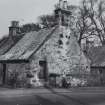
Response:
[[[49,74],[86,74],[90,72],[89,60],[80,49],[77,40],[66,27],[57,29],[51,38],[31,57],[37,74],[39,61],[47,62]]]

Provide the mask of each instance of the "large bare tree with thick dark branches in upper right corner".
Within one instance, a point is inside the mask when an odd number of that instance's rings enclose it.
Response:
[[[81,17],[77,22],[80,28],[79,40],[83,38],[83,34],[87,34],[87,37],[96,35],[102,45],[105,44],[105,1],[83,0],[80,11]]]

